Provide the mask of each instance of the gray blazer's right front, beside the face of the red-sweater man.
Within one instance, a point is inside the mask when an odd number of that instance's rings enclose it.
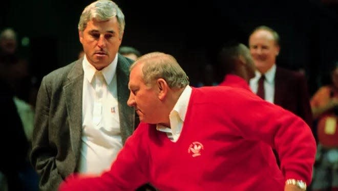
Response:
[[[129,66],[130,64],[128,61],[126,61],[126,59],[121,55],[118,55],[116,66],[117,98],[120,118],[120,131],[123,144],[126,138],[128,138],[133,133],[135,124],[135,110],[126,104],[129,98]]]

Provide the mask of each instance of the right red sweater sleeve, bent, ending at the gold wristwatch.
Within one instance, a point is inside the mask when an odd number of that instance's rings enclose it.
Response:
[[[311,182],[316,143],[310,127],[302,118],[255,94],[231,91],[226,114],[243,138],[263,141],[276,149],[285,179]]]

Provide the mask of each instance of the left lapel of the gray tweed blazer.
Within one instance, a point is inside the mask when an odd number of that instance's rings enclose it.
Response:
[[[69,83],[64,86],[69,119],[70,138],[75,160],[78,161],[82,133],[82,59],[77,61],[68,75]]]

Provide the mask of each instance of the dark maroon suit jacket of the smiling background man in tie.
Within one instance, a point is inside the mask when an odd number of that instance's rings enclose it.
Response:
[[[274,77],[274,104],[300,116],[312,126],[310,98],[303,74],[277,67]]]

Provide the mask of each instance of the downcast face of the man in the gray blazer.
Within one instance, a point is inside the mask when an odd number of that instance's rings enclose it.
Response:
[[[86,29],[79,31],[79,38],[88,61],[98,70],[114,60],[122,41],[116,17],[88,21]]]

